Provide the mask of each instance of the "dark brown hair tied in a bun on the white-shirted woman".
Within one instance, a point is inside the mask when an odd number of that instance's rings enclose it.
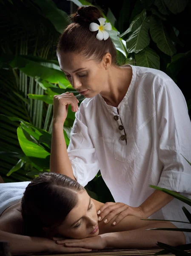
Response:
[[[82,6],[77,9],[71,18],[73,23],[68,25],[60,36],[57,44],[57,53],[77,52],[83,54],[87,59],[92,57],[96,61],[102,61],[106,52],[111,54],[112,64],[116,62],[116,49],[111,41],[99,41],[96,38],[97,32],[89,29],[91,22],[100,24],[97,19],[103,17],[102,13],[95,6]]]

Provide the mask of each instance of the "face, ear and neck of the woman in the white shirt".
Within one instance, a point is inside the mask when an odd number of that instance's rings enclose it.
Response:
[[[77,91],[89,90],[86,98],[100,93],[108,105],[118,106],[128,90],[132,78],[131,67],[118,67],[106,53],[101,62],[86,59],[75,52],[58,53],[60,69]],[[74,72],[78,69],[81,69]],[[120,83],[119,83],[120,81]]]

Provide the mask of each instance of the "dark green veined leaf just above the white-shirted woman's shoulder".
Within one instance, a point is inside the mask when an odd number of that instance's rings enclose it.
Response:
[[[151,48],[146,47],[141,52],[135,54],[137,66],[151,67],[160,70],[160,57]]]

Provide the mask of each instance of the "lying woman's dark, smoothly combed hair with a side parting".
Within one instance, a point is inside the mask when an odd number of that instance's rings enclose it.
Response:
[[[61,224],[77,203],[77,192],[85,189],[70,177],[44,172],[29,183],[21,201],[25,233],[43,234],[43,227]],[[39,234],[40,233],[40,234]]]

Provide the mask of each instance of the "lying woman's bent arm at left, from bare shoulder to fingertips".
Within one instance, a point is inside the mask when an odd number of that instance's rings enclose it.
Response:
[[[56,244],[54,241],[42,237],[31,237],[23,235],[23,218],[17,209],[0,216],[0,240],[8,241],[11,253],[66,253],[89,251],[84,248],[66,248]],[[21,235],[22,234],[22,235]]]

